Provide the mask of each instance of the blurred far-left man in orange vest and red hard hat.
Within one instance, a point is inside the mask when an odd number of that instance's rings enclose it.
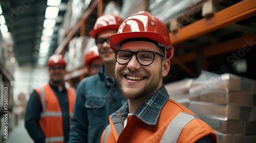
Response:
[[[66,64],[61,55],[52,55],[47,63],[49,83],[36,88],[30,95],[25,127],[37,143],[69,140],[75,93],[64,84]]]

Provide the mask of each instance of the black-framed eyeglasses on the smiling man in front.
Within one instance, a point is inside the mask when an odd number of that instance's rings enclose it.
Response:
[[[116,61],[119,64],[126,64],[132,59],[132,55],[136,55],[136,59],[139,64],[141,65],[151,65],[154,62],[155,55],[160,55],[164,57],[163,55],[153,52],[153,51],[137,51],[132,52],[129,50],[116,50],[114,51],[116,54]]]

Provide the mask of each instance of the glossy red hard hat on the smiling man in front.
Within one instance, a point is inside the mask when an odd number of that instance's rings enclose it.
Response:
[[[122,22],[117,34],[110,36],[110,47],[119,49],[119,43],[128,38],[148,38],[165,47],[166,58],[171,59],[174,55],[174,46],[170,43],[169,32],[164,23],[147,11],[140,11],[129,16]]]

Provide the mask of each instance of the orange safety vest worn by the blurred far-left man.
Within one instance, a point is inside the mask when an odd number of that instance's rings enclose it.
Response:
[[[69,88],[66,89],[68,92],[69,115],[71,119],[75,103],[75,93]],[[62,112],[54,91],[49,83],[42,88],[35,89],[35,91],[38,93],[42,105],[39,124],[46,135],[46,142],[64,142]]]

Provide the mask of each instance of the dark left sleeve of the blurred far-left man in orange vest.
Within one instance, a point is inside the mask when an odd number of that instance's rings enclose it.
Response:
[[[35,142],[45,142],[46,136],[39,125],[40,113],[42,111],[39,96],[36,91],[30,95],[25,113],[25,128]]]

